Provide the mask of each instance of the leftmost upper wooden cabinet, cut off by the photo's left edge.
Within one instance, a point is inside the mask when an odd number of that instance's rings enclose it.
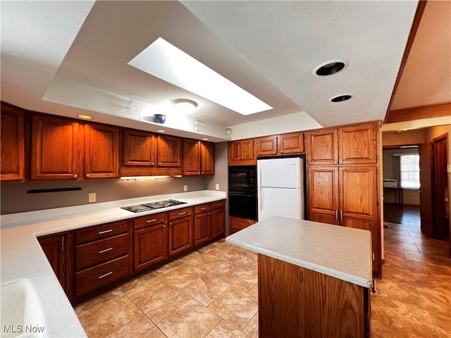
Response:
[[[24,113],[1,104],[1,181],[25,180],[25,122]]]

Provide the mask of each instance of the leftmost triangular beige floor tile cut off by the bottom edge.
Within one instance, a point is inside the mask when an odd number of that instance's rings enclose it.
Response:
[[[152,320],[146,317],[144,313],[138,315],[137,318],[131,320],[129,323],[123,325],[120,329],[109,334],[106,338],[135,338],[135,337],[147,337],[147,338],[166,338],[163,332]]]

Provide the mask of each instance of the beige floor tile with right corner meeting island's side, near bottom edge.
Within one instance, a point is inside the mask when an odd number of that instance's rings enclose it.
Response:
[[[258,301],[250,294],[229,287],[208,308],[242,330],[257,313]]]

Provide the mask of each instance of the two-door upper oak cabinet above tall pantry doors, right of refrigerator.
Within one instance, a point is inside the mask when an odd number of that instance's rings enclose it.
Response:
[[[377,163],[377,123],[307,132],[307,163]]]

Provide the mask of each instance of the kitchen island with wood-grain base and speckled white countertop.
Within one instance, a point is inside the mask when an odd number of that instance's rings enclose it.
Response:
[[[271,216],[227,237],[258,253],[259,337],[369,337],[371,232]]]

